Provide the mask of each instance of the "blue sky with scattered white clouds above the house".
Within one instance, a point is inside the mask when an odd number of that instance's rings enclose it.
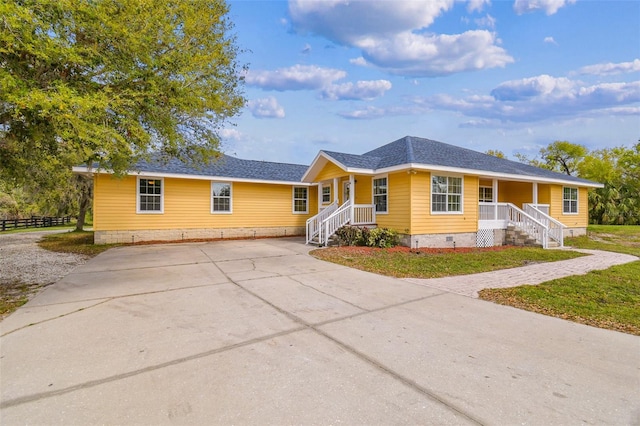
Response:
[[[309,164],[406,135],[535,156],[640,138],[640,2],[229,1],[240,158]]]

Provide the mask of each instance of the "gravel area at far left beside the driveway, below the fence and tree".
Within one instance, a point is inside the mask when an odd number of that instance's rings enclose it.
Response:
[[[55,253],[40,248],[37,242],[45,234],[68,231],[37,231],[0,234],[0,285],[20,281],[25,284],[52,284],[89,257]]]

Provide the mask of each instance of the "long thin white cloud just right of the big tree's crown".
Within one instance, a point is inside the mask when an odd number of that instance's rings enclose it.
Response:
[[[249,70],[245,81],[250,86],[258,86],[265,90],[309,90],[321,89],[346,75],[345,71],[334,68],[294,65],[274,71]]]

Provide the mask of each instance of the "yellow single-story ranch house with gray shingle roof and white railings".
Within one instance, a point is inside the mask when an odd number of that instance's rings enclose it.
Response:
[[[325,245],[341,226],[385,227],[410,247],[563,245],[588,224],[601,184],[406,136],[364,154],[320,151],[310,166],[222,155],[201,169],[138,163],[94,181],[95,242],[304,235]]]

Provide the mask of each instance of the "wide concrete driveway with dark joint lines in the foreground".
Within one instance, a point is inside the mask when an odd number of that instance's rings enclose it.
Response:
[[[639,337],[307,251],[99,255],[0,323],[0,423],[640,423]]]

